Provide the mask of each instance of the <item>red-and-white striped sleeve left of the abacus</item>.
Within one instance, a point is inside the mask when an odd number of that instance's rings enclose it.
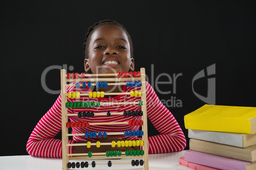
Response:
[[[71,110],[68,110],[71,112]],[[36,157],[62,157],[62,140],[54,137],[61,130],[61,95],[40,119],[27,141],[27,153]],[[69,140],[69,143],[75,143]],[[69,147],[72,154],[73,147]]]

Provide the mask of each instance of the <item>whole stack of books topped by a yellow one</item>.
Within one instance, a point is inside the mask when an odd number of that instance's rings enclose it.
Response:
[[[256,108],[204,105],[185,115],[189,150],[179,163],[193,169],[256,169]]]

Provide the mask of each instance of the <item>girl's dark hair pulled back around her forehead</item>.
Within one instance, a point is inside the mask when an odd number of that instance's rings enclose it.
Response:
[[[88,29],[87,34],[85,35],[85,42],[83,43],[83,51],[85,51],[85,58],[89,58],[89,51],[88,51],[88,46],[90,43],[90,36],[92,35],[92,32],[97,29],[97,27],[101,25],[117,25],[118,27],[121,27],[125,33],[127,34],[130,46],[131,46],[131,58],[133,57],[133,46],[132,46],[132,39],[127,30],[123,25],[120,23],[113,21],[113,20],[101,20],[99,22],[94,23],[94,25],[90,26]]]

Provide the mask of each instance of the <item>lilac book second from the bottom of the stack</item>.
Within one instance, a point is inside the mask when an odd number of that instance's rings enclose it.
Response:
[[[246,162],[243,160],[231,159],[228,157],[221,157],[218,155],[206,154],[194,150],[185,151],[185,160],[194,164],[214,167],[224,170],[254,170],[256,169],[256,162]]]

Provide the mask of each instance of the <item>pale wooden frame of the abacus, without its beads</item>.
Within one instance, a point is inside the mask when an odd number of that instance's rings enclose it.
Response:
[[[142,126],[142,131],[143,131],[143,136],[142,139],[144,141],[143,145],[143,150],[144,150],[144,155],[143,155],[143,160],[144,160],[144,169],[148,170],[148,123],[147,123],[147,114],[146,114],[146,77],[145,77],[145,68],[140,69],[141,76],[140,77],[127,77],[127,78],[97,78],[97,79],[67,79],[67,74],[66,70],[62,69],[60,70],[60,81],[61,81],[61,112],[62,112],[62,169],[68,170],[68,162],[69,160],[75,160],[75,159],[106,159],[108,157],[103,157],[103,156],[93,156],[92,158],[88,157],[82,157],[82,155],[85,154],[69,154],[69,145],[68,144],[68,137],[69,136],[75,136],[75,134],[68,134],[68,128],[66,127],[66,123],[68,122],[68,116],[69,115],[67,112],[66,108],[66,102],[67,102],[67,82],[96,82],[97,81],[106,81],[106,82],[115,82],[111,83],[110,85],[115,85],[115,84],[124,84],[124,81],[141,81],[141,101],[142,101],[142,106],[141,110],[143,111],[142,115],[142,120],[143,120],[143,126]],[[108,76],[108,75],[115,75],[117,74],[85,74],[85,76]],[[117,83],[118,82],[118,83]],[[93,84],[95,85],[95,84]],[[72,85],[71,85],[72,86]],[[121,95],[122,93],[110,93],[110,94],[105,94],[105,95]],[[82,95],[82,94],[81,94]],[[122,95],[127,95],[127,94],[122,94]],[[104,103],[108,105],[108,103]],[[125,102],[125,103],[111,103],[111,105],[115,104],[134,104],[134,102]],[[73,115],[73,114],[72,114]],[[74,145],[74,144],[73,144]],[[79,144],[78,144],[79,145]],[[77,146],[78,146],[77,145]],[[70,156],[75,156],[75,157],[70,157]],[[80,156],[80,157],[76,157]],[[96,158],[94,158],[96,157]],[[122,158],[122,157],[118,157]],[[109,157],[109,159],[113,159],[112,157]],[[127,164],[127,162],[118,162],[117,164]]]

